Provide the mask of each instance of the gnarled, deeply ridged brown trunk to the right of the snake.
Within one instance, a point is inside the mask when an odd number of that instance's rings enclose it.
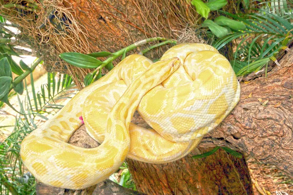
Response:
[[[292,45],[293,41],[289,47]],[[281,58],[282,68],[275,66],[267,78],[263,75],[241,83],[239,103],[200,146],[211,142],[229,146],[292,177],[293,54],[282,51],[277,58]]]

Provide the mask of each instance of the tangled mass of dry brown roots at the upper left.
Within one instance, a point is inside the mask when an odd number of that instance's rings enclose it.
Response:
[[[16,7],[5,8],[4,5]],[[82,88],[81,78],[76,76],[86,75],[88,70],[69,68],[58,58],[64,52],[89,53],[87,32],[76,20],[74,11],[64,7],[63,0],[4,0],[0,8],[5,19],[20,25],[21,34],[17,38],[24,40],[26,46],[35,49],[39,56],[50,51],[50,57],[44,60],[47,71],[69,73]]]

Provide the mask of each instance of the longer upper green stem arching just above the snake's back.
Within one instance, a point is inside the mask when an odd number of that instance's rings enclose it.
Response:
[[[175,40],[171,40],[171,39],[167,39],[167,38],[163,38],[163,37],[154,37],[154,38],[148,38],[148,39],[140,40],[140,41],[138,41],[138,42],[136,42],[136,43],[133,43],[133,44],[131,44],[131,45],[129,45],[129,46],[127,46],[127,47],[125,47],[125,48],[123,48],[123,49],[121,49],[121,50],[115,52],[115,53],[113,53],[113,55],[112,55],[111,57],[107,58],[105,61],[103,61],[103,63],[101,64],[101,67],[99,66],[98,68],[100,68],[100,70],[102,70],[102,68],[103,68],[105,65],[107,65],[108,63],[110,63],[110,62],[113,61],[114,59],[117,59],[119,56],[123,55],[124,52],[129,52],[129,51],[131,51],[131,50],[133,50],[133,49],[135,49],[135,48],[137,48],[137,47],[139,47],[139,46],[141,46],[141,45],[144,45],[144,44],[146,44],[146,43],[149,43],[149,42],[152,42],[152,41],[156,41],[156,40],[175,41]],[[165,44],[167,44],[167,43],[165,43]],[[96,68],[96,70],[97,70],[98,68]],[[95,76],[94,76],[93,79],[91,80],[91,83],[95,80],[95,78],[97,78],[98,74],[99,74],[99,72],[97,72],[97,73],[95,74]]]

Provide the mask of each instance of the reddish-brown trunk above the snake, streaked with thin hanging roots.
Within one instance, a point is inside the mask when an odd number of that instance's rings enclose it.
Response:
[[[183,0],[66,0],[88,32],[93,52],[114,52],[150,37],[177,39],[198,17]],[[162,50],[163,51],[163,50]]]

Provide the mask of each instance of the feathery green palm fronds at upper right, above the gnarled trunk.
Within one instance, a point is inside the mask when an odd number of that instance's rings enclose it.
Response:
[[[240,16],[225,12],[231,18],[246,24],[247,29],[234,31],[213,44],[220,49],[230,41],[237,40],[231,63],[237,76],[260,70],[292,36],[293,25],[290,20],[265,10],[256,11]]]

